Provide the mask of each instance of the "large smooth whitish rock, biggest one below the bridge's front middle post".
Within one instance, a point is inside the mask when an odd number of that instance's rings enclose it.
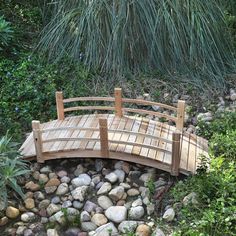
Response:
[[[124,206],[111,206],[105,211],[105,215],[109,220],[121,223],[126,220],[127,209]]]

